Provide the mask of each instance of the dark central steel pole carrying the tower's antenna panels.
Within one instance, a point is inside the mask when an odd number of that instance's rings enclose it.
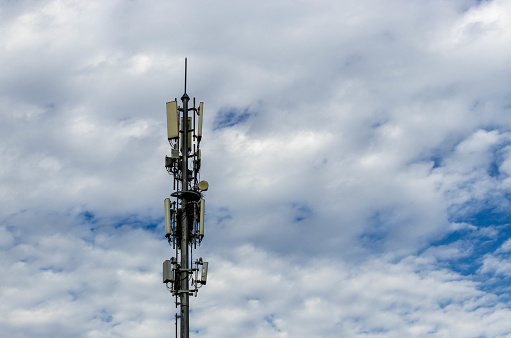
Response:
[[[185,77],[186,78],[186,77]],[[183,184],[181,190],[188,190],[188,101],[190,98],[185,93],[181,97],[183,102],[183,136],[182,136],[182,173],[183,173]],[[185,194],[183,194],[185,195]],[[185,196],[181,200],[181,208],[183,210],[182,215],[182,226],[181,226],[181,338],[188,338],[190,332],[190,319],[189,319],[189,294],[188,294],[188,274],[189,274],[189,262],[188,262],[188,201]]]

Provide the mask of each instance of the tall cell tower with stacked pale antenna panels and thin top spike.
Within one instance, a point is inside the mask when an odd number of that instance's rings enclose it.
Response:
[[[178,107],[177,98],[167,102],[167,136],[170,144],[170,157],[165,156],[165,168],[174,176],[173,198],[166,198],[165,237],[175,250],[175,256],[163,262],[163,283],[175,297],[176,308],[180,306],[177,320],[180,319],[180,337],[188,338],[190,332],[190,296],[197,297],[197,292],[206,284],[208,262],[202,257],[193,262],[193,249],[200,246],[204,238],[203,192],[208,190],[208,182],[200,181],[202,139],[202,116],[204,103],[193,108],[188,107],[190,97],[186,93],[185,58],[185,92],[181,97],[182,106]],[[189,116],[191,113],[192,116]],[[191,262],[195,267],[191,267]],[[200,269],[201,267],[202,269]],[[199,274],[199,270],[200,274]],[[170,286],[169,286],[170,284]],[[190,288],[191,287],[191,288]]]

